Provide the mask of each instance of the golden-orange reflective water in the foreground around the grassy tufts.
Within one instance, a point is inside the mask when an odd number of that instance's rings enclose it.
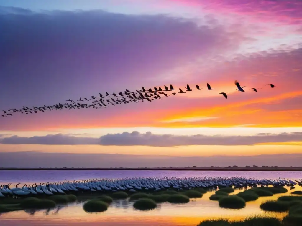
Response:
[[[289,189],[289,187],[287,187]],[[91,197],[80,197],[79,201],[60,204],[53,209],[26,210],[4,213],[0,216],[1,225],[179,225],[192,226],[207,218],[230,218],[240,220],[246,216],[269,215],[283,218],[286,213],[264,212],[259,206],[269,199],[278,199],[288,195],[294,190],[302,190],[296,186],[287,193],[275,194],[272,197],[259,197],[259,199],[246,203],[243,209],[222,209],[217,201],[211,201],[209,197],[215,191],[208,192],[202,198],[191,199],[185,204],[159,203],[157,208],[151,211],[133,209],[133,201],[128,199],[114,200],[108,210],[101,213],[86,213],[83,204]],[[233,194],[241,190],[236,189]]]

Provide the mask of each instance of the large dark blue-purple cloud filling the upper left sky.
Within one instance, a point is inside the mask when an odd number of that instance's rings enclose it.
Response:
[[[242,38],[219,24],[101,10],[36,13],[2,7],[0,24],[4,109],[137,89],[150,78],[157,85],[167,70],[223,54]]]

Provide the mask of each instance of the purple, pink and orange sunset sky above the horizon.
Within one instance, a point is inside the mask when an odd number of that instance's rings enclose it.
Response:
[[[203,88],[1,117],[0,167],[302,166],[301,11],[299,0],[0,0],[1,110]]]

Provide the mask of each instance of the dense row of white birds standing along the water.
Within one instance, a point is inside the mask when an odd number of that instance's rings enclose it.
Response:
[[[296,182],[295,182],[296,181]],[[134,177],[124,179],[92,179],[82,181],[64,181],[59,183],[41,183],[38,184],[24,184],[19,188],[16,184],[11,188],[11,184],[2,184],[0,186],[0,197],[8,196],[31,196],[31,195],[54,195],[77,192],[138,192],[149,191],[156,192],[160,190],[183,190],[201,187],[205,189],[216,189],[217,187],[257,187],[257,186],[291,186],[298,184],[302,186],[302,180],[258,180],[255,178],[246,177]]]

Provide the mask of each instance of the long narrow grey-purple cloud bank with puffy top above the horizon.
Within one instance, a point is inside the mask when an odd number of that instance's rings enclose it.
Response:
[[[253,136],[180,136],[172,134],[158,135],[151,132],[107,134],[99,138],[78,137],[65,134],[47,136],[18,137],[11,136],[0,139],[2,144],[40,144],[40,145],[102,145],[102,146],[153,146],[175,147],[190,145],[255,145],[259,143],[282,143],[302,141],[302,132],[294,133],[259,133]]]

